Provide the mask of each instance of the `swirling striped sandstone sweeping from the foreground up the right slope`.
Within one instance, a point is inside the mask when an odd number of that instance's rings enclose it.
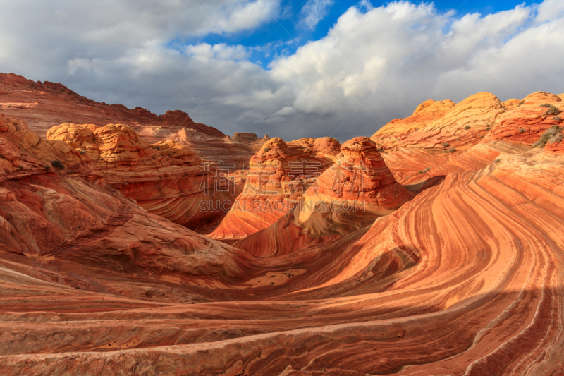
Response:
[[[558,375],[562,176],[563,162],[546,153],[449,174],[369,229],[271,257],[259,275],[247,269],[252,279],[226,286],[222,303],[118,300],[25,277],[10,271],[16,261],[4,262],[3,288],[13,294],[4,301],[1,335],[10,346],[0,367],[45,375]],[[54,306],[65,298],[80,310]],[[16,305],[22,299],[27,306]]]

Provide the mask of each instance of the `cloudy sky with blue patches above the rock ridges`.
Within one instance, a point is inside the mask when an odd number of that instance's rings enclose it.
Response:
[[[564,92],[563,0],[11,1],[0,46],[2,72],[284,140],[372,135],[427,99]]]

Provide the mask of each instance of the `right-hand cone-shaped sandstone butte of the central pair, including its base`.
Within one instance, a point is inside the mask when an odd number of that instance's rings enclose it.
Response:
[[[354,138],[341,146],[336,163],[292,212],[232,244],[260,257],[295,253],[369,226],[413,197],[393,178],[376,144],[367,137]]]

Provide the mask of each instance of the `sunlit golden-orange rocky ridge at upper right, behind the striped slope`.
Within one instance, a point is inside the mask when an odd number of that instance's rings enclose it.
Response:
[[[499,102],[489,93],[459,104],[427,101],[412,116],[388,123],[372,140],[385,148],[382,155],[394,177],[418,191],[437,176],[483,169],[500,152],[525,152],[548,128],[563,122],[562,116],[547,114],[547,105],[564,110],[562,99],[546,92],[521,101]],[[560,147],[545,148],[558,152]]]

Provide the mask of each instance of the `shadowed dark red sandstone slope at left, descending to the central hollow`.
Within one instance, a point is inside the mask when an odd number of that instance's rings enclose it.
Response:
[[[141,293],[131,284],[136,273],[156,279],[200,274],[207,281],[206,272],[223,260],[222,268],[237,274],[237,253],[235,259],[221,255],[231,251],[142,210],[100,178],[92,159],[65,142],[45,141],[23,121],[0,116],[0,155],[2,265],[32,276],[14,274],[16,279],[143,297],[149,290]],[[45,162],[55,157],[58,163]],[[130,284],[128,291],[121,291],[120,284]],[[6,301],[13,296],[4,296]]]

